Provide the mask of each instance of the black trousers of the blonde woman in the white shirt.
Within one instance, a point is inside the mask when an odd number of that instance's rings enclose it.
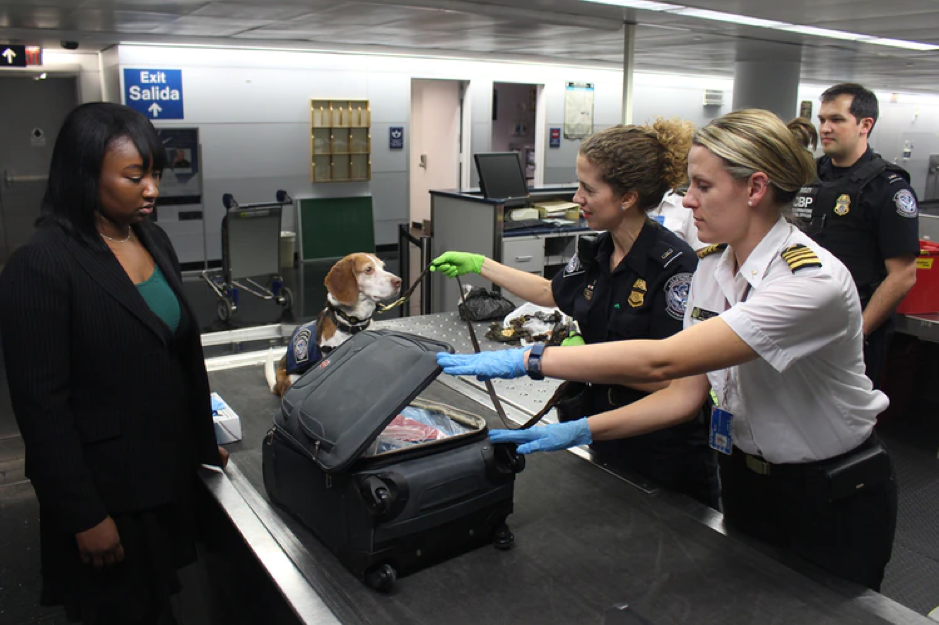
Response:
[[[872,444],[879,444],[873,434],[858,449]],[[803,473],[761,475],[747,466],[746,455],[737,449],[731,456],[721,454],[719,463],[728,526],[880,590],[897,523],[892,466],[880,483],[833,498],[821,463],[805,465]]]

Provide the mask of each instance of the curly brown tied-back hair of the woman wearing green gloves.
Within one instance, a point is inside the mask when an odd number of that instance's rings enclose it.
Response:
[[[580,145],[580,153],[616,195],[634,191],[639,208],[649,211],[687,180],[693,135],[691,122],[658,117],[651,125],[620,124],[596,132]]]

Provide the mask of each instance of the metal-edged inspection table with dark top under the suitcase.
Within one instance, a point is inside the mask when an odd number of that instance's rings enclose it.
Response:
[[[377,324],[471,352],[455,313]],[[477,324],[481,336],[486,324]],[[775,557],[724,530],[720,514],[681,495],[634,485],[589,453],[529,456],[518,475],[510,551],[483,547],[398,580],[387,594],[353,577],[264,490],[261,444],[279,399],[264,380],[269,345],[287,326],[205,335],[212,389],[240,415],[244,439],[225,472],[202,479],[301,623],[768,623],[888,624],[929,621],[872,591],[807,564]],[[483,349],[499,345],[485,342]],[[277,347],[277,349],[283,349]],[[556,382],[496,380],[509,418],[537,411]],[[475,380],[441,376],[456,407],[499,427]],[[337,398],[341,401],[341,398]],[[623,620],[628,614],[644,621]]]

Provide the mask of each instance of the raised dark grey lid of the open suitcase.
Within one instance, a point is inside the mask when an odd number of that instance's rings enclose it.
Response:
[[[279,427],[326,473],[352,464],[440,374],[446,343],[390,330],[360,332],[284,393]]]

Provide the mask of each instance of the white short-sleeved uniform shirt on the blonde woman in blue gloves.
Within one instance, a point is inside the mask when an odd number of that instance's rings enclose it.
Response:
[[[799,244],[820,267],[790,268],[781,253]],[[734,446],[774,464],[857,447],[889,401],[864,375],[861,302],[847,268],[780,218],[733,270],[730,248],[701,259],[685,327],[720,315],[760,356],[707,374],[734,415]]]

